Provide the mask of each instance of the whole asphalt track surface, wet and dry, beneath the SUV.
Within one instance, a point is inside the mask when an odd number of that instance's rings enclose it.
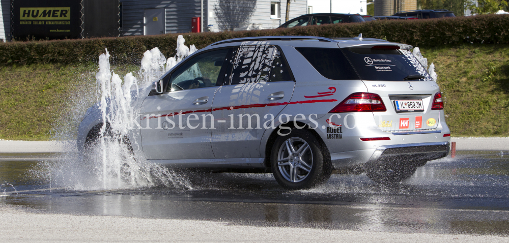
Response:
[[[457,140],[457,158],[429,162],[397,186],[376,185],[365,175],[333,175],[324,186],[294,192],[270,175],[229,173],[190,174],[192,190],[52,188],[27,173],[58,146],[48,150],[42,143],[40,154],[5,154],[2,143],[9,141],[0,141],[0,239],[509,242],[507,141]],[[469,146],[491,149],[462,150]]]

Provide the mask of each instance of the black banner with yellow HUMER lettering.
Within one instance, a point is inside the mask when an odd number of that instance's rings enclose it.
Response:
[[[81,34],[81,0],[13,0],[16,39],[74,39]]]

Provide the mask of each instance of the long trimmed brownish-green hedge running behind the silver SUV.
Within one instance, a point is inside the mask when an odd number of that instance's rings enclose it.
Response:
[[[438,45],[462,45],[468,43],[508,44],[509,15],[480,15],[473,17],[382,20],[366,23],[328,24],[323,26],[295,27],[290,29],[266,29],[261,31],[187,33],[186,44],[196,48],[224,39],[252,36],[321,36],[386,38],[389,41],[419,47]],[[138,63],[143,53],[159,47],[166,56],[175,55],[179,34],[137,36],[119,38],[96,38],[82,40],[56,40],[10,42],[0,44],[0,63],[75,63],[97,62],[98,56],[108,48],[111,62]]]

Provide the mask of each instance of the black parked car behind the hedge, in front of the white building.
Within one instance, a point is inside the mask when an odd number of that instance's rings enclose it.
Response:
[[[292,28],[295,26],[307,25],[321,25],[330,23],[358,23],[365,22],[359,14],[334,14],[334,13],[321,13],[321,14],[304,14],[294,18],[278,28]]]

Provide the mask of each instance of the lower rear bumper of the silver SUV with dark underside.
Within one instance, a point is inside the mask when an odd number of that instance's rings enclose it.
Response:
[[[449,154],[449,142],[427,142],[383,145],[376,149],[363,149],[330,155],[334,169],[354,167],[365,164],[403,164],[422,166],[427,161],[443,158]]]

